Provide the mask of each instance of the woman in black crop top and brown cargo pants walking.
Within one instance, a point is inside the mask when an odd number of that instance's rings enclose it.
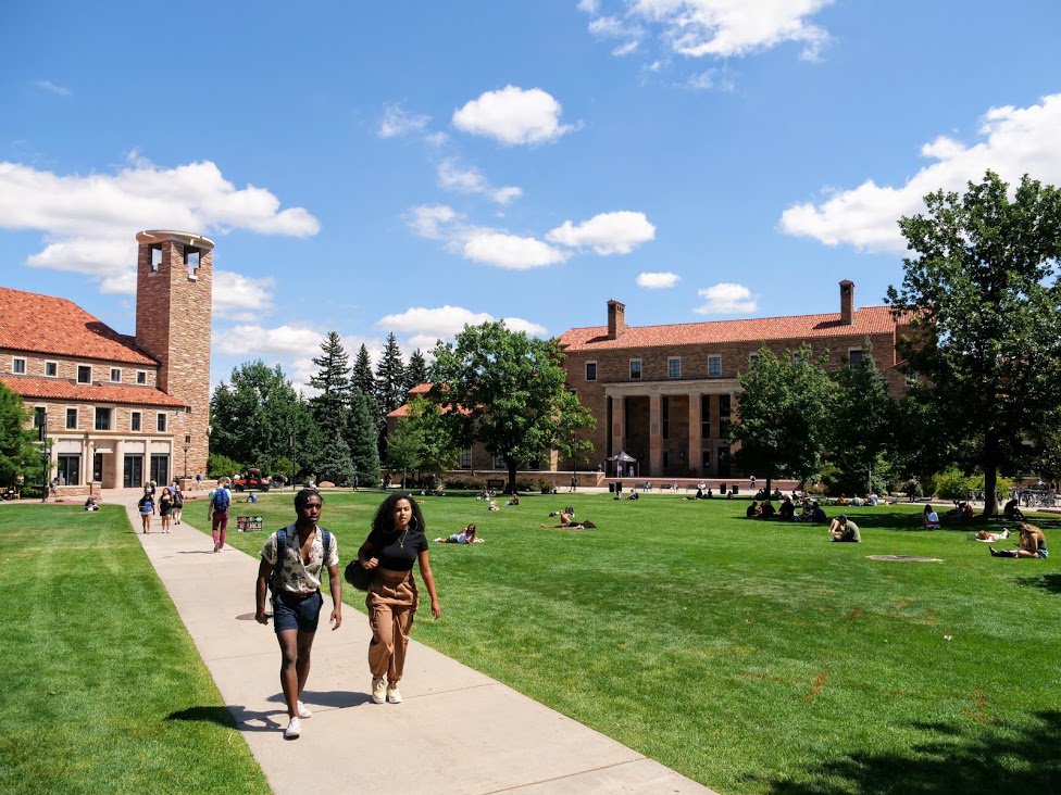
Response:
[[[372,671],[372,701],[401,703],[398,682],[405,666],[405,649],[420,592],[413,578],[413,564],[420,564],[430,596],[432,615],[442,615],[430,570],[424,516],[409,494],[391,494],[376,510],[372,532],[358,550],[358,559],[374,572],[365,606],[369,608],[369,669]]]

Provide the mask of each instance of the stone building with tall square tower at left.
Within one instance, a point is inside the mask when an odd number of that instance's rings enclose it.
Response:
[[[0,288],[0,382],[43,428],[60,493],[207,467],[214,243],[161,230],[136,239],[133,337],[67,299]]]

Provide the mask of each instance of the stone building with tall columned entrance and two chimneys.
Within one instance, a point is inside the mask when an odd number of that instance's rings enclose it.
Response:
[[[815,354],[828,352],[828,366],[840,367],[862,356],[869,342],[898,396],[906,382],[896,342],[906,327],[887,306],[856,308],[853,282],[839,287],[838,313],[666,326],[627,326],[626,307],[609,301],[607,326],[573,328],[559,339],[567,386],[597,418],[587,434],[589,460],[561,462],[560,468],[588,463],[611,474],[608,458],[625,451],[641,477],[738,475],[731,470],[724,425],[737,411],[737,374],[763,346],[784,355],[808,344]]]

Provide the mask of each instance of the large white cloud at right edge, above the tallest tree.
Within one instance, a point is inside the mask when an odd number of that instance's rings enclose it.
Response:
[[[1061,184],[1061,93],[1044,97],[1028,108],[993,108],[984,117],[983,140],[963,144],[946,136],[921,149],[935,160],[901,187],[878,186],[872,179],[850,190],[833,191],[820,205],[797,204],[781,217],[788,235],[814,238],[826,245],[849,243],[866,251],[904,251],[900,216],[924,210],[924,197],[937,190],[963,192],[988,168],[1011,185],[1023,174]]]

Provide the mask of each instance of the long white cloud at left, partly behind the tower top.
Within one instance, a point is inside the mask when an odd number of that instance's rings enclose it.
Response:
[[[104,292],[134,291],[135,232],[141,229],[294,237],[320,229],[304,209],[279,205],[263,188],[237,189],[209,161],[159,168],[138,157],[117,174],[89,176],[0,163],[0,228],[45,235],[45,248],[27,263],[87,274]]]

